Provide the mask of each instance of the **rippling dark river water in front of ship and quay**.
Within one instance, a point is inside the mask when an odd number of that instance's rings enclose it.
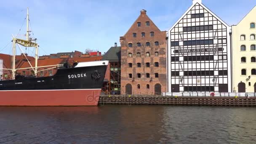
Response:
[[[0,143],[255,144],[256,108],[0,107]]]

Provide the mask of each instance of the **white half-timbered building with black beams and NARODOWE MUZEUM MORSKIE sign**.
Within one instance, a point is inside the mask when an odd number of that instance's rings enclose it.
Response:
[[[169,92],[231,92],[229,27],[201,0],[168,30]]]

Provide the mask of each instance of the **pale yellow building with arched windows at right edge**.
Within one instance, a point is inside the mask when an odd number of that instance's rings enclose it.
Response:
[[[256,92],[256,6],[232,26],[232,90]]]

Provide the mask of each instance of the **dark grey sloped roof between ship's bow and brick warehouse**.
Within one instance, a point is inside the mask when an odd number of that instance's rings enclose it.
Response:
[[[121,47],[117,46],[109,48],[107,53],[103,55],[102,60],[108,60],[109,62],[121,61]]]

